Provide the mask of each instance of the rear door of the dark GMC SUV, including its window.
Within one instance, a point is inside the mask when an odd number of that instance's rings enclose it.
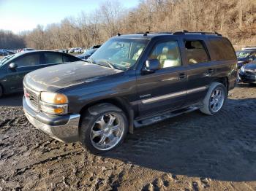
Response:
[[[206,95],[208,85],[216,72],[210,61],[204,38],[185,36],[183,39],[187,62],[187,103],[195,104]]]

